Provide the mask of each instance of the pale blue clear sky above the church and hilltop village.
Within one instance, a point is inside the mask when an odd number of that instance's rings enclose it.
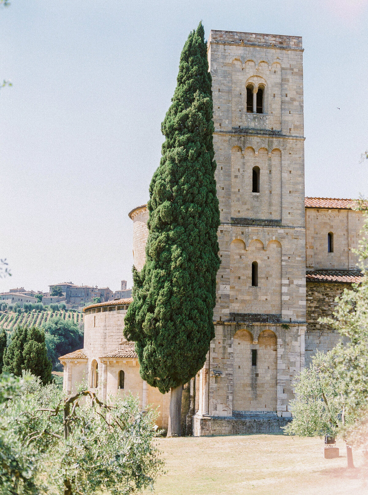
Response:
[[[180,51],[210,29],[303,36],[306,195],[368,196],[367,0],[12,0],[0,11],[0,291],[131,287]],[[337,109],[340,108],[340,110]]]

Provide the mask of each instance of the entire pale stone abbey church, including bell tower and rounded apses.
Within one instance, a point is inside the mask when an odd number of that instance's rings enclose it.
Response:
[[[215,339],[204,368],[185,386],[183,432],[278,431],[291,417],[295,377],[317,349],[338,341],[317,319],[359,281],[353,248],[363,213],[354,200],[305,198],[302,39],[211,31],[208,58],[221,265]],[[129,216],[140,270],[146,206]],[[130,391],[143,408],[159,405],[159,426],[167,427],[168,395],[142,381],[123,338],[130,301],[85,308],[84,348],[60,358],[64,390],[84,377],[103,398]]]

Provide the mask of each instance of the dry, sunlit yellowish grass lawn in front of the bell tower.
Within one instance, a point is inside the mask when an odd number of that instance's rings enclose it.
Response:
[[[283,435],[158,439],[166,474],[145,495],[368,495],[368,467],[322,457],[323,440]]]

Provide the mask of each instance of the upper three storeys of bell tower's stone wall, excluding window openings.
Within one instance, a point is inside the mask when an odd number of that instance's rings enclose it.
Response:
[[[211,31],[208,56],[221,221],[215,318],[277,314],[279,321],[304,323],[301,38]],[[249,78],[264,87],[262,114],[246,112]],[[260,193],[252,192],[254,166],[260,168]],[[278,249],[269,253],[272,241]],[[242,243],[243,253],[232,252]],[[253,246],[257,252],[251,252]],[[254,260],[259,261],[259,287],[249,283]]]

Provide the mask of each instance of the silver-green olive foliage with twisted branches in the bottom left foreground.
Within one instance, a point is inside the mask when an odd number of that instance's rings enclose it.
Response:
[[[138,399],[65,397],[40,379],[0,381],[1,495],[128,495],[153,485],[162,467],[156,413]]]

